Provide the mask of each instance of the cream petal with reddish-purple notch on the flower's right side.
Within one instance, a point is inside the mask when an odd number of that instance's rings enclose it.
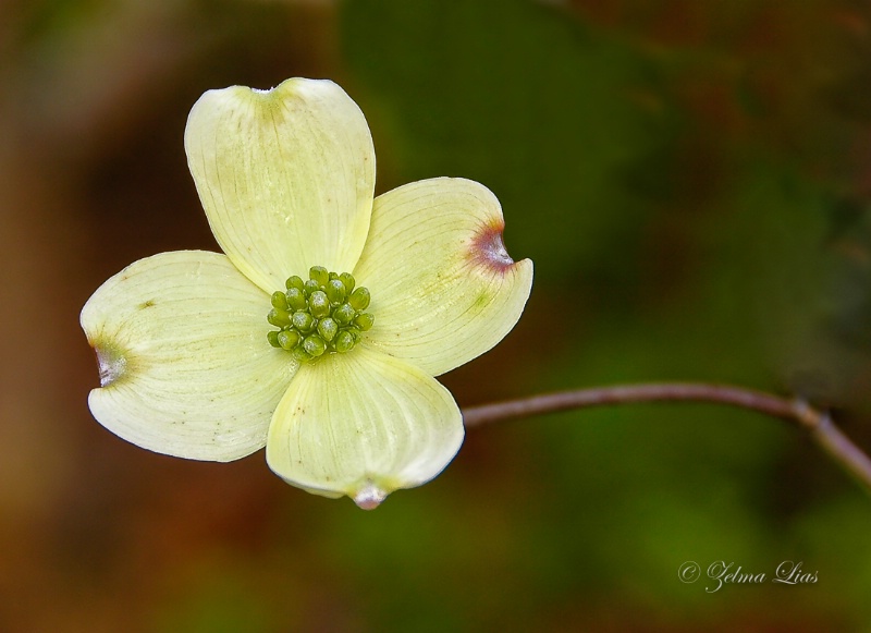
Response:
[[[426,180],[376,198],[354,270],[372,296],[366,344],[438,376],[501,341],[532,285],[532,263],[508,256],[503,228],[499,200],[469,180]]]

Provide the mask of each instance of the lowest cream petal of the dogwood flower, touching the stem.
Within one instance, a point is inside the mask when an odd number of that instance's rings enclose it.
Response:
[[[266,455],[289,484],[369,509],[438,475],[462,442],[459,410],[444,387],[358,346],[299,369],[275,410]]]

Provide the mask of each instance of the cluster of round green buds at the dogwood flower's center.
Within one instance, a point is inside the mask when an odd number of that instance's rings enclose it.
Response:
[[[312,266],[307,281],[294,275],[285,285],[286,292],[272,293],[272,309],[266,319],[279,329],[267,332],[267,339],[300,362],[349,352],[375,322],[375,317],[364,312],[369,307],[369,291],[354,288],[349,272],[336,275]]]

